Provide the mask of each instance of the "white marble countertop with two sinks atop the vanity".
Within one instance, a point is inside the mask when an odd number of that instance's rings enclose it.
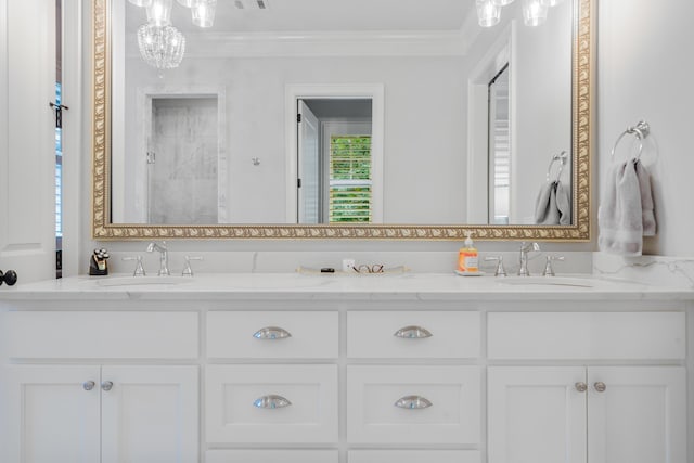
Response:
[[[73,276],[0,288],[0,301],[33,300],[694,300],[694,290],[590,274],[555,278],[454,273],[210,273],[183,276]]]

